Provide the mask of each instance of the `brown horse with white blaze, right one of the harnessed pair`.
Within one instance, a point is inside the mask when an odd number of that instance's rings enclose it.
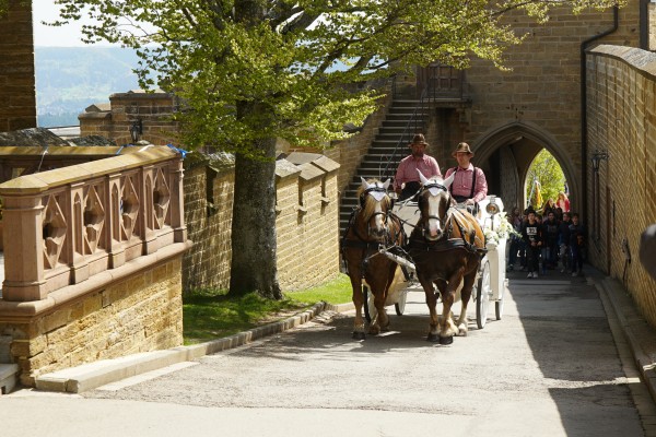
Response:
[[[408,246],[431,311],[427,340],[440,341],[441,344],[453,343],[456,334],[467,334],[467,305],[485,250],[485,237],[477,220],[453,204],[448,187],[454,176],[446,180],[440,177],[426,179],[420,172],[422,188],[418,204],[421,215]],[[454,323],[452,306],[460,282],[462,309],[457,323]],[[433,284],[442,294],[440,318]]]

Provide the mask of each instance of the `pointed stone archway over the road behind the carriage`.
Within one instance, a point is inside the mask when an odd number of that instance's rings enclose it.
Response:
[[[487,174],[497,175],[496,178],[489,177],[489,185],[499,191],[506,208],[526,204],[525,179],[528,167],[542,149],[547,149],[561,166],[572,202],[581,202],[581,182],[572,156],[553,135],[539,126],[522,121],[497,126],[478,138],[472,146],[477,161],[487,167]],[[514,192],[513,184],[516,188]]]

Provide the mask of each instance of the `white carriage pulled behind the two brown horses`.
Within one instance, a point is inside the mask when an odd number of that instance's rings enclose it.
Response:
[[[403,221],[406,233],[410,235],[414,223],[419,220],[419,209],[415,202],[398,202],[394,212]],[[488,196],[479,202],[479,214],[477,216],[481,228],[485,235],[487,253],[481,259],[472,297],[476,303],[476,322],[479,329],[485,327],[490,304],[494,303],[494,312],[496,320],[503,316],[503,297],[507,285],[506,272],[506,244],[508,223],[505,218],[503,201],[496,196]],[[408,288],[414,281],[414,264],[398,255],[390,253],[382,249],[380,253],[390,258],[399,264],[397,277],[389,290],[385,306],[395,306],[396,314],[401,316],[406,308]],[[402,269],[409,274],[403,276]],[[458,294],[459,295],[459,294]],[[371,293],[366,285],[364,286],[364,314],[367,321],[374,317],[376,308]]]

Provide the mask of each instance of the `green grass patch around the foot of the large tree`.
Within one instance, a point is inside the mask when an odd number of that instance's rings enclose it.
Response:
[[[260,324],[282,320],[317,302],[351,302],[349,276],[340,274],[321,286],[284,293],[282,300],[270,300],[257,293],[232,298],[221,290],[195,291],[183,296],[185,344],[229,336]]]

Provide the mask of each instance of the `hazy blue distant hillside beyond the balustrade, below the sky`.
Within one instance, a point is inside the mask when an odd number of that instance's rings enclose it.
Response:
[[[78,115],[109,95],[139,87],[133,50],[119,47],[35,47],[38,127],[78,125]]]

